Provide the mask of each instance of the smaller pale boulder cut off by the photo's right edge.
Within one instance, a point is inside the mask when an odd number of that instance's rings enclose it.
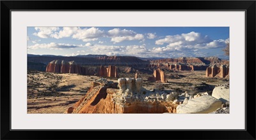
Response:
[[[216,99],[219,99],[224,104],[226,102],[229,102],[229,88],[215,87],[212,90],[212,97],[215,97]]]

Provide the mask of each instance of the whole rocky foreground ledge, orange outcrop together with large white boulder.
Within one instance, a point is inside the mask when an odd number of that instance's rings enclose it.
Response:
[[[65,113],[214,113],[227,106],[207,92],[167,93],[146,90],[142,85],[141,78],[119,78],[118,83],[100,78],[93,81],[88,93]]]

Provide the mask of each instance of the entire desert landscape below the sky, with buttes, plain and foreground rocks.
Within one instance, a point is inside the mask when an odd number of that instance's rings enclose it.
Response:
[[[229,62],[28,54],[28,113],[229,113]]]

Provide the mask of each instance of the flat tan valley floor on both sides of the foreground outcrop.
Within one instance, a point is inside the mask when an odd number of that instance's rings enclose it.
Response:
[[[161,88],[166,92],[208,92],[216,85],[227,83],[229,78],[205,78],[205,71],[164,71],[166,83],[149,82],[152,74],[139,74],[147,90]],[[119,73],[120,78],[134,78],[134,73]],[[83,97],[90,83],[98,76],[28,72],[28,113],[64,113]],[[117,82],[117,78],[108,78]]]

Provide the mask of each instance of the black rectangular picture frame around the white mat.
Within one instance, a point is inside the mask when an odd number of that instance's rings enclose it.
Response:
[[[145,3],[141,5],[140,3]],[[1,1],[1,139],[255,139],[256,1]],[[106,8],[100,9],[102,4]],[[87,6],[86,6],[87,5]],[[90,6],[88,6],[90,5]],[[116,6],[119,5],[119,6]],[[11,130],[11,11],[245,11],[245,130]],[[8,59],[8,60],[7,60]],[[10,82],[6,80],[10,79]],[[232,93],[230,93],[232,94]],[[237,102],[239,104],[239,102]],[[118,132],[116,132],[118,131]],[[93,134],[92,134],[93,132]],[[124,137],[118,137],[116,133]]]

